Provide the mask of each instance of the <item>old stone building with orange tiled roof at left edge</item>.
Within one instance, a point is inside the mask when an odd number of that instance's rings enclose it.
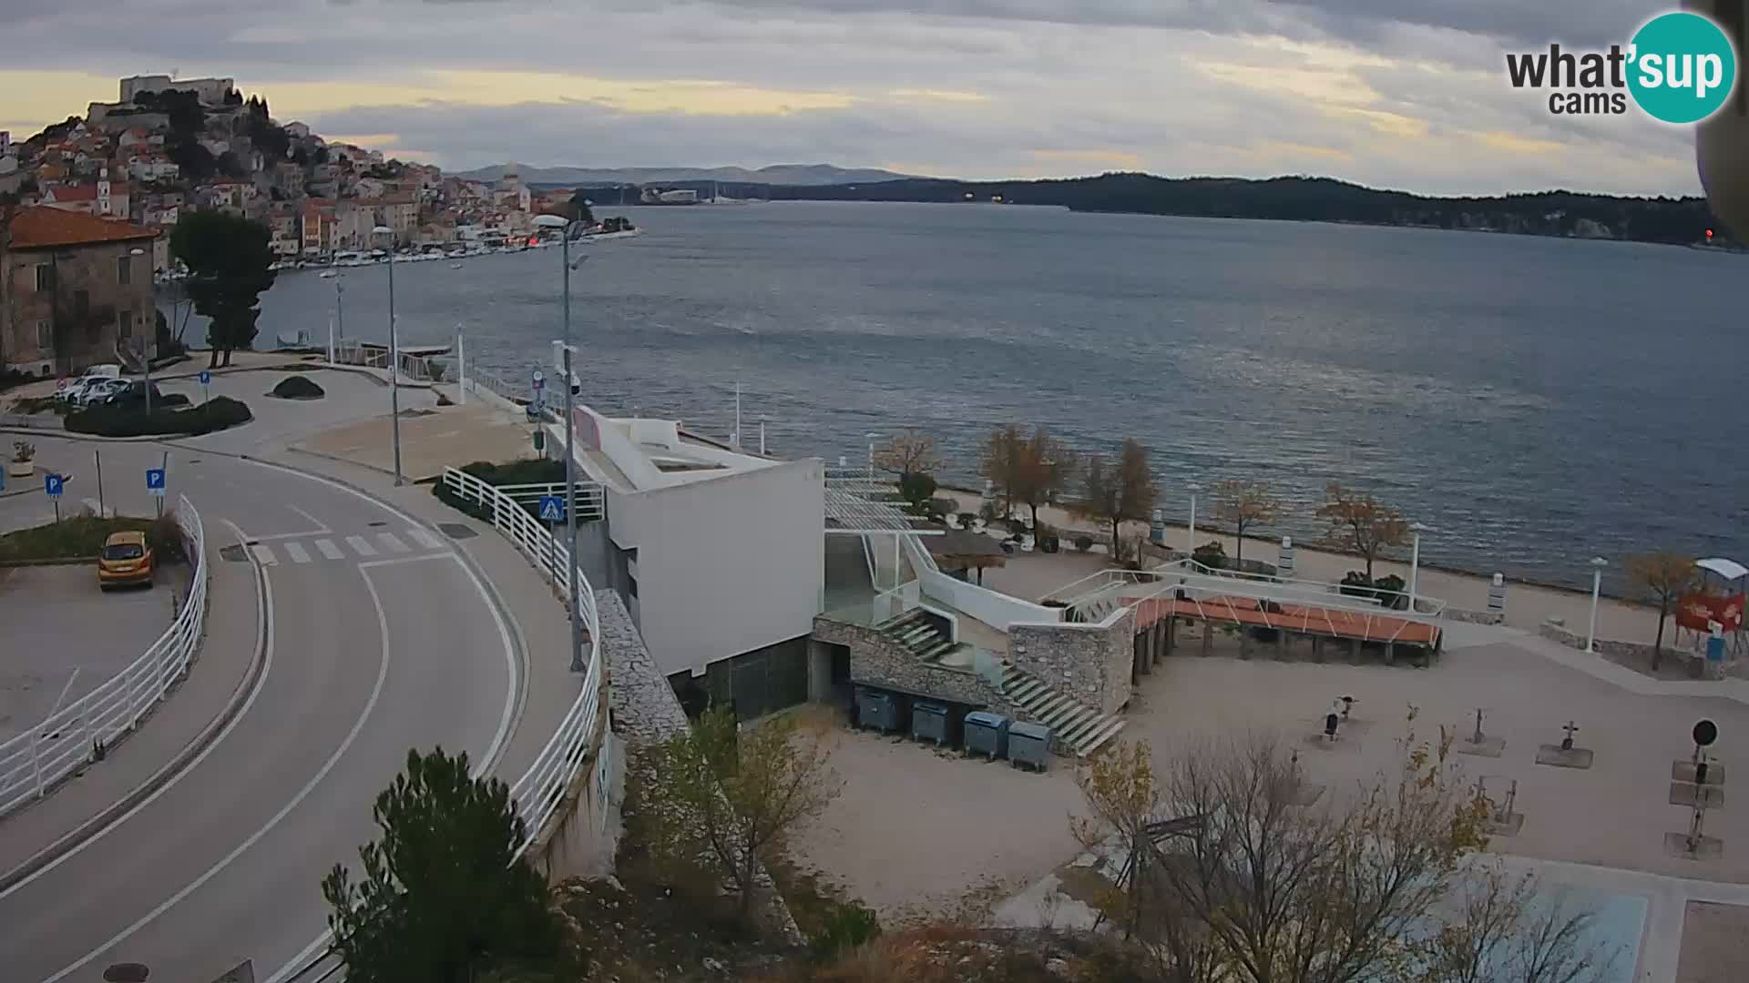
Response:
[[[156,229],[63,208],[0,212],[0,366],[37,376],[115,362],[154,334]]]

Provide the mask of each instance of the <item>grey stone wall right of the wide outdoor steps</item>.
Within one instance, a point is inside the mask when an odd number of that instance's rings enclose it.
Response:
[[[1011,624],[1007,658],[1063,696],[1116,714],[1130,701],[1135,609],[1097,624]]]

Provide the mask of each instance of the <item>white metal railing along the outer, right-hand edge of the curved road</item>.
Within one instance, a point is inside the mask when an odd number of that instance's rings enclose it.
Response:
[[[565,563],[570,556],[563,542],[553,539],[553,533],[530,516],[521,504],[472,474],[446,467],[442,481],[463,500],[477,502],[488,511],[491,525],[516,544],[523,556],[558,589],[561,598],[567,596],[570,584],[565,577]],[[516,803],[516,812],[523,817],[530,836],[537,834],[553,819],[560,801],[565,798],[565,789],[577,777],[582,757],[600,726],[602,626],[595,609],[595,589],[589,586],[589,579],[582,575],[582,570],[577,570],[577,616],[582,617],[584,626],[589,630],[589,665],[584,670],[582,693],[577,694],[577,700],[565,712],[565,717],[553,731],[546,747],[540,749],[540,754],[523,771],[523,777],[511,785],[511,799]],[[523,841],[516,848],[516,855],[519,857],[526,848],[528,843]]]

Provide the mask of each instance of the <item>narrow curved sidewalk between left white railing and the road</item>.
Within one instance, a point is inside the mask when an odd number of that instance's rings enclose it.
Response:
[[[231,542],[229,530],[208,525],[206,633],[184,680],[108,757],[0,819],[0,889],[152,794],[154,777],[180,771],[243,703],[261,656],[259,595],[254,565],[219,558]]]

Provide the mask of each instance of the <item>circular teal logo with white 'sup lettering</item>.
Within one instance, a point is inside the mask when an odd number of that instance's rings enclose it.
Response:
[[[1660,14],[1628,45],[1628,91],[1653,119],[1700,122],[1730,98],[1737,51],[1718,24],[1686,10]]]

